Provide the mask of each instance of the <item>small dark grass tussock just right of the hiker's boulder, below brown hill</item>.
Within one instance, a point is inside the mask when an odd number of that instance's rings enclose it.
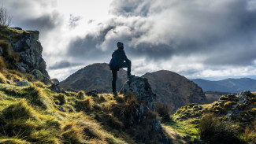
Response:
[[[161,120],[162,121],[169,121],[171,120],[170,114],[170,108],[168,105],[162,104],[162,103],[158,103],[157,104],[157,112],[159,114],[159,116],[161,116]]]

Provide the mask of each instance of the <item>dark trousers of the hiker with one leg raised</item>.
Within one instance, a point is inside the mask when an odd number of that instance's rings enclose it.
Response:
[[[127,76],[131,75],[131,61],[124,62],[123,65],[119,66],[120,68],[127,68]],[[116,83],[117,83],[117,70],[112,70],[112,90],[113,92],[117,91]]]

